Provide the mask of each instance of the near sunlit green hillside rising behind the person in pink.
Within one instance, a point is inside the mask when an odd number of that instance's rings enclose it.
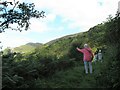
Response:
[[[95,51],[97,48],[106,48],[104,42],[105,24],[98,24],[92,27],[87,32],[76,33],[73,35],[67,35],[55,40],[52,40],[43,45],[42,48],[37,49],[37,52],[44,53],[44,56],[51,55],[57,59],[63,57],[76,58],[76,55],[70,55],[70,52],[75,51],[76,47],[83,48],[85,43],[88,43],[90,47]],[[72,50],[72,51],[71,51]],[[74,53],[78,53],[75,51]]]

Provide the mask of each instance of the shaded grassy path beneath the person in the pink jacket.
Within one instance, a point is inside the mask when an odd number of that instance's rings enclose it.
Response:
[[[96,74],[100,72],[101,63],[93,64],[93,74],[86,75],[84,66],[77,65],[71,69],[60,71],[52,77],[37,79],[37,88],[96,88]]]

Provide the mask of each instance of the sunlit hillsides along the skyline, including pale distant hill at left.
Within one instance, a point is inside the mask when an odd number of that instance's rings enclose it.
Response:
[[[46,44],[41,43],[28,43],[20,47],[14,48],[16,52],[33,52],[36,47],[42,46],[42,48],[37,49],[40,53],[50,53],[58,58],[69,54],[70,49],[74,44],[78,44],[78,47],[83,47],[84,43],[88,43],[93,51],[96,48],[103,48],[104,41],[102,41],[105,30],[104,24],[98,24],[95,27],[90,28],[87,32],[80,32],[72,35],[67,35],[55,40],[49,41]],[[94,44],[93,44],[94,43]]]

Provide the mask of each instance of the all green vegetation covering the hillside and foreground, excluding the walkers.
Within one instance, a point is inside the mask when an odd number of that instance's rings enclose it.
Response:
[[[87,32],[65,36],[31,53],[3,51],[2,88],[119,88],[120,17],[109,17]],[[93,62],[93,74],[85,75],[82,55],[76,47],[88,43],[103,51],[103,62]]]

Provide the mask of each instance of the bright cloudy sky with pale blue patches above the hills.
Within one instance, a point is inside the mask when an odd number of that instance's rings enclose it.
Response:
[[[5,1],[5,0],[0,0]],[[14,0],[7,0],[14,1]],[[30,20],[28,31],[6,30],[0,33],[0,46],[18,47],[29,42],[47,43],[51,40],[88,31],[89,28],[114,16],[119,0],[16,0],[34,3],[35,9],[45,11],[45,18]],[[15,25],[13,25],[14,27]]]

